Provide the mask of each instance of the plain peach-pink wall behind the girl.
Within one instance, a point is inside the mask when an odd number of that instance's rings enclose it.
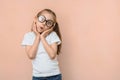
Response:
[[[58,17],[63,80],[120,80],[120,0],[0,0],[0,80],[31,80],[21,41],[44,8]]]

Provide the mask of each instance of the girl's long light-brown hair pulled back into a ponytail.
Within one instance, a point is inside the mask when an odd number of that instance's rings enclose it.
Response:
[[[56,14],[55,14],[51,9],[43,9],[43,10],[41,10],[40,12],[38,12],[38,14],[36,15],[36,17],[38,18],[43,12],[48,12],[48,13],[50,13],[50,14],[53,15],[53,19],[54,19],[54,21],[56,22],[56,23],[55,23],[55,26],[54,26],[54,28],[53,28],[53,31],[55,31],[55,32],[57,33],[57,35],[59,36],[60,40],[62,41],[62,36],[61,36],[61,33],[60,33],[59,24],[58,24],[57,21],[56,21]],[[32,29],[31,29],[31,30],[32,30]],[[62,46],[62,44],[58,45],[57,54],[60,53],[60,51],[61,51],[61,46]]]

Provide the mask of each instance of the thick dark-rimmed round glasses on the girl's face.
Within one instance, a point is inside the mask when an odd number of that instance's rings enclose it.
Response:
[[[43,15],[38,17],[38,21],[41,23],[45,22],[45,25],[47,27],[52,27],[55,24],[55,22],[53,20],[46,20],[46,17]]]

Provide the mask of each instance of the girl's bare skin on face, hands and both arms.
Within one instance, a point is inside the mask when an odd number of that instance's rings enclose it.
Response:
[[[48,12],[43,12],[42,15],[44,15],[47,19],[53,19],[53,16]],[[25,48],[25,51],[28,55],[29,59],[35,59],[36,52],[38,49],[39,42],[41,41],[43,43],[43,46],[48,53],[50,59],[54,59],[57,55],[57,43],[53,43],[49,45],[45,39],[45,37],[53,31],[53,27],[49,28],[45,25],[45,23],[40,23],[38,19],[35,17],[33,21],[33,31],[36,34],[35,41],[33,45],[29,46],[27,45]]]

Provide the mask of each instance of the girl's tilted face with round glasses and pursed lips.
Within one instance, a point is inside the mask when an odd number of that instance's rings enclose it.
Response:
[[[44,32],[45,30],[50,29],[55,25],[55,20],[53,18],[53,15],[44,11],[36,20],[37,25],[37,31],[39,33]]]

